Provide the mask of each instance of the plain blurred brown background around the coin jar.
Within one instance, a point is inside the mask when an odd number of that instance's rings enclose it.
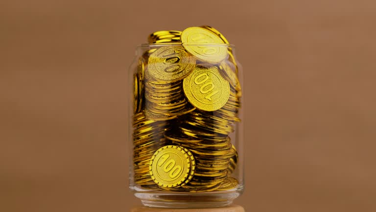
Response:
[[[211,25],[244,67],[248,212],[376,211],[374,0],[0,2],[0,211],[128,212],[127,69]]]

